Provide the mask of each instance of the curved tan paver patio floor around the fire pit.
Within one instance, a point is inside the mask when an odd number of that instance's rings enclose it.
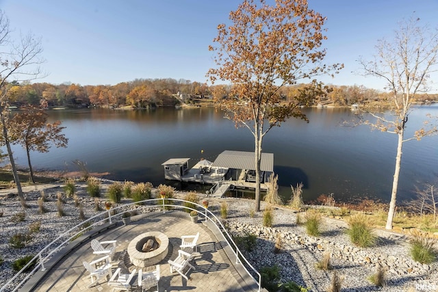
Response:
[[[166,258],[159,262],[160,292],[257,291],[257,282],[246,274],[242,265],[235,264],[235,256],[222,234],[216,230],[214,224],[203,220],[204,218],[200,217],[199,222],[194,224],[190,222],[188,214],[183,211],[167,211],[166,213],[159,211],[150,213],[148,217],[133,221],[127,226],[118,222],[114,228],[99,233],[94,238],[99,241],[117,240],[117,248],[113,256],[113,271],[120,267],[124,273],[128,273],[133,269],[139,269],[129,261],[126,252],[129,242],[149,231],[166,234],[169,239],[169,251]],[[189,280],[185,280],[178,273],[170,274],[168,259],[177,257],[181,244],[180,237],[195,235],[198,232],[200,233],[198,254],[192,261],[195,269],[188,272]],[[90,262],[99,257],[92,254],[90,239],[88,239],[78,248],[64,254],[62,259],[38,282],[33,291],[112,291],[106,280],[101,280],[94,287],[87,288],[90,278],[82,262]],[[135,286],[133,286],[133,291],[136,291]]]

